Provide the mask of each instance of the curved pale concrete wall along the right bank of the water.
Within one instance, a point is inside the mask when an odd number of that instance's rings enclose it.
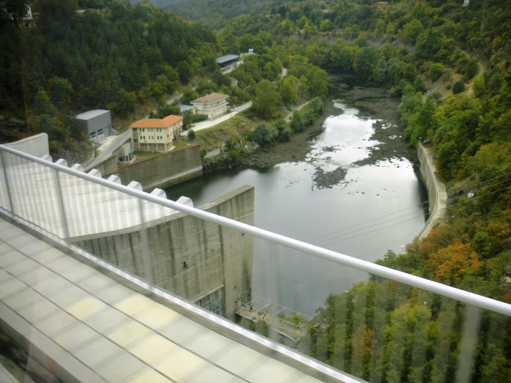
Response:
[[[417,236],[422,240],[431,229],[444,217],[447,206],[447,192],[443,182],[435,177],[433,159],[428,150],[419,143],[417,156],[421,163],[421,177],[428,189],[429,219]]]

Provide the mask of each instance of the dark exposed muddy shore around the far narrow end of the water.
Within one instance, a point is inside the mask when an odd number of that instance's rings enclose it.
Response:
[[[324,119],[339,113],[339,109],[334,105],[335,100],[342,100],[343,103],[358,108],[360,114],[378,120],[373,125],[374,133],[370,138],[378,141],[378,144],[370,148],[367,158],[355,162],[354,165],[377,165],[382,160],[406,158],[418,169],[416,153],[403,138],[403,128],[399,124],[398,106],[400,100],[391,98],[387,90],[382,87],[354,85],[354,79],[349,76],[331,76],[329,80],[330,95],[325,103],[323,113],[305,131],[293,134],[288,142],[277,143],[269,148],[245,151],[236,158],[221,154],[204,160],[204,174],[238,166],[264,168],[284,162],[306,161],[311,150],[312,137],[322,131]],[[325,150],[329,149],[325,148]],[[332,150],[340,149],[333,148]],[[332,172],[324,172],[317,168],[314,182],[319,188],[332,187],[341,182],[345,174],[346,170],[342,168]]]

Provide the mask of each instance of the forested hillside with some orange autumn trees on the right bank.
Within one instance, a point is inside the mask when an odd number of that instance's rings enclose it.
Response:
[[[382,265],[511,302],[511,10],[506,2],[287,2],[230,20],[225,51],[315,64],[387,87],[403,133],[432,151],[444,220]],[[382,254],[383,256],[383,254]],[[466,305],[371,278],[332,295],[301,349],[370,381],[508,381],[511,321],[481,313],[460,367]],[[477,313],[476,313],[477,314]]]

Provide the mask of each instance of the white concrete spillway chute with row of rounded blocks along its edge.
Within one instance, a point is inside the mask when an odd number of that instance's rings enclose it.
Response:
[[[1,164],[0,169],[8,169],[10,198],[7,197],[6,183],[0,182],[0,206],[14,210],[19,217],[61,238],[123,230],[178,213],[101,184],[56,172],[44,164],[19,161],[13,155],[4,157],[6,164]],[[52,160],[48,154],[44,154],[42,159]],[[64,159],[56,163],[68,166]],[[83,166],[73,164],[72,169],[83,171]],[[92,169],[88,174],[102,178],[98,169]],[[0,177],[5,179],[3,174]],[[111,175],[109,180],[121,183],[118,175]],[[140,182],[132,181],[128,186],[142,191]],[[166,197],[161,189],[154,193]],[[191,200],[183,203],[193,206]]]

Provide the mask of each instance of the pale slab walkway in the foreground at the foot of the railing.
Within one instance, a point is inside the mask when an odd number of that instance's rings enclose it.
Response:
[[[3,219],[0,285],[4,331],[64,381],[320,381]]]

